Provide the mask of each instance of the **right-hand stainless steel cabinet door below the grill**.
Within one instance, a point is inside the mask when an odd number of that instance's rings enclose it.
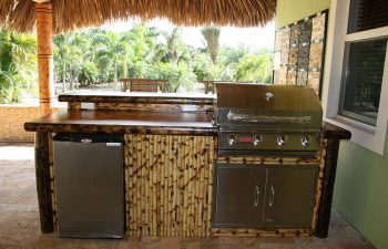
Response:
[[[318,166],[268,168],[264,221],[267,228],[309,228]]]

